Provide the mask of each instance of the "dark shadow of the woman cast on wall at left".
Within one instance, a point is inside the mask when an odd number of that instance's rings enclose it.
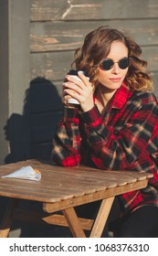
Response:
[[[10,144],[5,164],[28,158],[50,159],[61,109],[58,91],[50,80],[41,77],[31,80],[23,114],[13,113],[4,127],[5,139]]]

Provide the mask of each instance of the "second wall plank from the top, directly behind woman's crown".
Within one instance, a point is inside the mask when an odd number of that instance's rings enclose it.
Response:
[[[115,27],[127,31],[138,44],[158,44],[157,19],[129,19],[102,21],[34,22],[30,24],[31,52],[74,50],[83,43],[84,37],[100,26]]]

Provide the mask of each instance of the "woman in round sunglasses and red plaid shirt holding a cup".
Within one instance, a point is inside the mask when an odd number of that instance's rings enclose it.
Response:
[[[141,48],[117,29],[99,27],[76,51],[76,69],[90,81],[67,75],[64,112],[52,158],[63,166],[151,172],[148,187],[118,197],[118,237],[158,235],[158,104]],[[80,105],[68,104],[73,97]]]

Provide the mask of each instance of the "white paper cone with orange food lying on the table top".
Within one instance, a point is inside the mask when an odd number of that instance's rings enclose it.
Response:
[[[16,170],[14,173],[1,177],[14,177],[39,181],[41,179],[41,173],[37,169],[28,165]]]

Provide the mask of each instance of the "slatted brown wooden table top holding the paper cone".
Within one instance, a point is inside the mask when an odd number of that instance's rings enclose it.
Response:
[[[1,178],[26,165],[31,165],[41,172],[40,181]],[[136,181],[147,180],[150,177],[153,175],[131,171],[99,170],[88,166],[62,167],[28,160],[0,166],[0,196],[55,203],[112,187],[134,184]],[[144,183],[144,187],[146,184]]]

